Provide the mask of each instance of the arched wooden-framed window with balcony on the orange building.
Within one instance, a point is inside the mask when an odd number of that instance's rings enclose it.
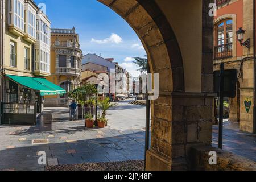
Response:
[[[233,21],[225,19],[216,24],[216,46],[214,46],[214,59],[232,57],[233,50]]]

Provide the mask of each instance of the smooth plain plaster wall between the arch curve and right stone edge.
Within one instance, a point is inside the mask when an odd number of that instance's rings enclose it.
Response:
[[[185,92],[201,92],[202,0],[155,1],[170,22],[181,49]]]

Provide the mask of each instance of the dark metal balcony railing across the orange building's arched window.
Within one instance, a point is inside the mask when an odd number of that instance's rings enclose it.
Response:
[[[214,46],[214,59],[224,59],[232,57],[233,43]]]

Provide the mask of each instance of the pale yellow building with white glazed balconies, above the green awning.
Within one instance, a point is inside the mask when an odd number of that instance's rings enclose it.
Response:
[[[3,77],[2,102],[16,104],[38,103],[38,112],[43,111],[43,96],[40,90],[31,89],[9,76],[43,78],[50,76],[49,67],[51,22],[46,14],[31,0],[3,1]],[[42,45],[38,47],[38,45]],[[36,55],[35,47],[38,47]],[[44,49],[47,55],[40,52]],[[38,64],[35,57],[38,56]]]

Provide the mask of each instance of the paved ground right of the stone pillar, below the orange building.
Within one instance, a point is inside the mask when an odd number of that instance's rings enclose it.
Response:
[[[239,123],[224,122],[223,149],[256,161],[256,135],[239,131]],[[218,126],[213,126],[214,147],[218,147]]]

